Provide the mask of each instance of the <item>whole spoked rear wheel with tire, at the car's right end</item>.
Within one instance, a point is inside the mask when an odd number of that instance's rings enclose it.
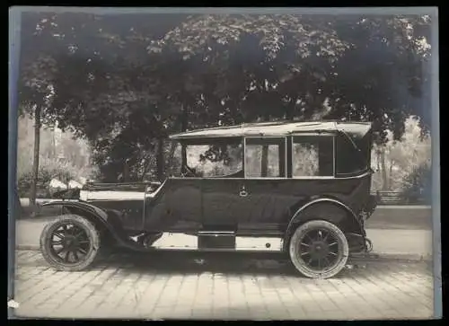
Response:
[[[307,278],[332,278],[348,261],[349,245],[338,226],[315,220],[300,225],[290,240],[290,259]]]

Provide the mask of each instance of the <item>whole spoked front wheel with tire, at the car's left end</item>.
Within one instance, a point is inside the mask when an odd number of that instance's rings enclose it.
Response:
[[[54,269],[79,271],[97,258],[101,237],[94,225],[83,216],[64,215],[44,227],[40,251]]]

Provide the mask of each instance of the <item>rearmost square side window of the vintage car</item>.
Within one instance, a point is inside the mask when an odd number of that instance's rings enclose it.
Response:
[[[328,177],[334,175],[334,138],[298,136],[292,139],[292,176]]]

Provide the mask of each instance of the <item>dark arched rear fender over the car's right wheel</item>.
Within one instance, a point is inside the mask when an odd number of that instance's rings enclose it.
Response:
[[[343,233],[365,237],[365,229],[354,211],[334,198],[316,198],[298,208],[286,228],[286,244],[298,225],[312,220],[325,220],[339,226]]]

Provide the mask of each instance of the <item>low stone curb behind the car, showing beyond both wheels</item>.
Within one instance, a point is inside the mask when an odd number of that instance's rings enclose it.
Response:
[[[15,246],[16,251],[40,251],[38,244],[19,244]],[[367,255],[355,255],[349,257],[349,261],[382,261],[382,260],[408,260],[408,261],[432,261],[432,255],[418,253],[369,253]]]

